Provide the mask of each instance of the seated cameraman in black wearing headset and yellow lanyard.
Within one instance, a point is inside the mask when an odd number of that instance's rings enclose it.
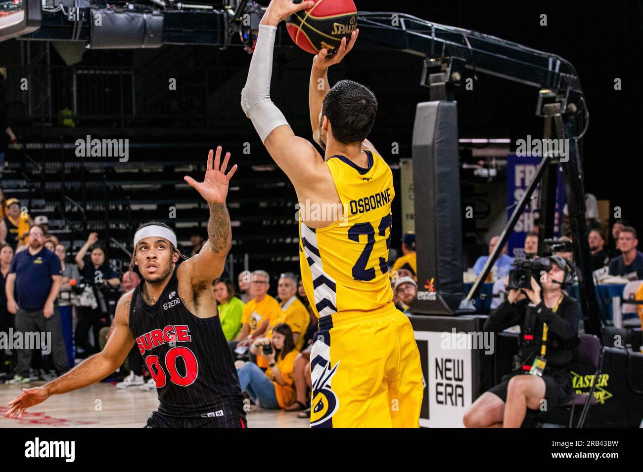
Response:
[[[520,325],[518,356],[514,371],[469,406],[463,418],[467,428],[520,428],[527,408],[554,410],[572,395],[569,363],[581,306],[563,288],[572,283],[573,267],[561,256],[543,262],[550,268],[542,289],[534,277],[531,290],[509,288],[507,300],[484,324],[484,331],[495,332]]]

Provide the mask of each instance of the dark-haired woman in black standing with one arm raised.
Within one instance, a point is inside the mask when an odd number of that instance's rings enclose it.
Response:
[[[98,233],[92,232],[87,238],[87,242],[76,254],[76,263],[80,270],[85,283],[92,286],[93,295],[96,299],[95,307],[81,306],[78,313],[78,322],[76,324],[75,341],[77,347],[85,351],[86,356],[98,352],[98,340],[100,329],[109,326],[109,310],[105,300],[105,291],[107,288],[117,287],[120,280],[109,267],[109,261],[105,258],[105,251],[102,247],[93,247],[89,256],[90,263],[85,263],[85,254],[87,250],[98,242]],[[93,328],[94,343],[89,342],[89,329]]]

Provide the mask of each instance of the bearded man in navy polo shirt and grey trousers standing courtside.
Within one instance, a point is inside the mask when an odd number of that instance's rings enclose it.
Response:
[[[39,346],[27,345],[27,340],[42,340],[42,335],[32,337],[26,336],[26,333],[44,333],[45,342],[50,343],[47,347],[58,374],[69,369],[57,303],[62,284],[60,259],[43,243],[44,231],[40,226],[33,226],[29,230],[28,249],[15,254],[6,278],[7,309],[15,313],[15,330],[23,333],[25,340],[23,349],[18,349],[13,383],[29,381],[32,349],[27,348],[38,349]]]

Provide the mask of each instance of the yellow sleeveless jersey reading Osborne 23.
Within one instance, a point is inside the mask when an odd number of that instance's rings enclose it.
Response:
[[[300,207],[302,283],[318,317],[346,310],[377,310],[393,299],[387,268],[393,175],[384,159],[366,153],[367,168],[341,155],[325,162],[340,195],[338,221],[321,229],[309,228],[303,219],[313,219],[315,211],[335,209]]]

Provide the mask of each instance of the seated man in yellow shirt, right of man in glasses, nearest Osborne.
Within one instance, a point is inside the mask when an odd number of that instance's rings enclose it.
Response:
[[[303,303],[296,297],[297,282],[298,277],[292,272],[281,274],[281,277],[279,277],[277,293],[281,310],[280,313],[277,313],[270,320],[264,338],[272,338],[275,326],[285,323],[293,332],[295,349],[301,351],[303,347],[303,335],[306,333],[308,324],[311,322],[311,317],[306,307],[303,306]],[[266,356],[262,356],[262,354],[259,353],[257,355],[257,365],[262,368],[267,367]]]

